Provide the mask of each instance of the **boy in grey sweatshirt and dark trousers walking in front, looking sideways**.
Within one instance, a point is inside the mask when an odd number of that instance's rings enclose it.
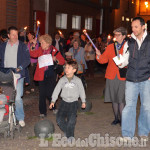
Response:
[[[50,109],[54,107],[58,95],[61,92],[61,103],[56,116],[56,122],[66,137],[74,137],[74,129],[77,116],[78,99],[81,98],[82,108],[85,104],[85,91],[80,78],[74,75],[77,71],[77,62],[68,61],[65,65],[65,76],[63,76],[55,87],[52,95]]]

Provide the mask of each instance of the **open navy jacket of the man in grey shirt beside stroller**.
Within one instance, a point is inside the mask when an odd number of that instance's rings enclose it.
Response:
[[[5,49],[6,44],[2,43],[0,45],[0,67],[4,67],[4,57],[5,57]],[[17,68],[21,67],[22,70],[19,72],[21,77],[25,77],[25,69],[30,64],[30,53],[28,47],[21,41],[19,41],[18,45],[18,54],[17,54]]]

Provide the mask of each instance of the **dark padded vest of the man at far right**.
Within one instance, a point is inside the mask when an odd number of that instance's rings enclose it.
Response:
[[[150,77],[150,35],[148,34],[140,49],[138,43],[131,38],[129,45],[129,64],[126,80],[131,82],[142,82]]]

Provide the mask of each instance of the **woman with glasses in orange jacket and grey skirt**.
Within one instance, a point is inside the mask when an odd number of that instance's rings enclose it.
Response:
[[[116,125],[121,123],[122,110],[125,106],[125,77],[120,76],[119,68],[113,59],[117,58],[117,63],[122,61],[120,54],[123,53],[127,31],[124,27],[119,27],[113,33],[116,42],[108,45],[102,55],[96,50],[96,59],[101,64],[108,63],[105,74],[106,89],[104,101],[112,102],[115,120],[111,124]]]

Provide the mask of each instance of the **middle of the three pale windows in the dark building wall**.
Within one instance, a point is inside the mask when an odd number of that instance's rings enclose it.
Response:
[[[81,29],[81,16],[72,16],[72,29]]]

